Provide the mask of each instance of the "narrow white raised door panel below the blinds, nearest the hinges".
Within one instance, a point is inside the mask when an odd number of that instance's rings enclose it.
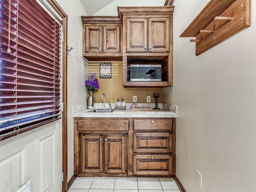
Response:
[[[39,140],[39,189],[49,191],[55,184],[55,135]],[[60,162],[61,163],[61,162]]]

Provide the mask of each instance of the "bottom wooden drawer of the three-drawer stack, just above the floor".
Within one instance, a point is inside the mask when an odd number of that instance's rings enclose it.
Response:
[[[171,155],[134,155],[134,175],[171,175]]]

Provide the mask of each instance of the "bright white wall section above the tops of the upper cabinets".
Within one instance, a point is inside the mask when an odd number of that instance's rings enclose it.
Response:
[[[163,6],[165,0],[114,0],[94,16],[118,16],[118,6]]]

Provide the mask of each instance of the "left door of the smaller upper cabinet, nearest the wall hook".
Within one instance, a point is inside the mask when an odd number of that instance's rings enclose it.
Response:
[[[85,52],[102,53],[102,26],[86,26],[85,33]]]

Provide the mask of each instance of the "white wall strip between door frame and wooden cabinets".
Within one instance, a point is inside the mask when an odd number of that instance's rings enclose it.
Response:
[[[80,0],[57,0],[68,15],[68,181],[74,174],[74,120],[73,106],[86,103],[87,92],[85,71],[82,57],[82,20],[86,12]]]

